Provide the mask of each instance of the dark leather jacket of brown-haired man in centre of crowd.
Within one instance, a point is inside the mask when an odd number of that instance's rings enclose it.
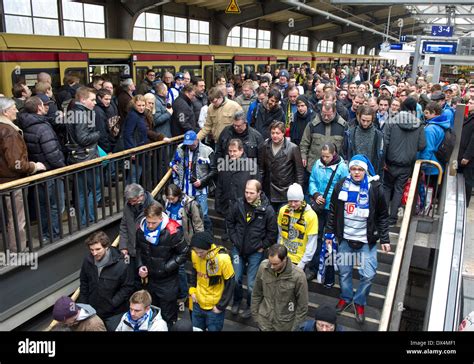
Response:
[[[258,170],[263,191],[271,202],[286,202],[288,187],[304,183],[304,167],[298,146],[283,140],[283,146],[273,155],[272,140],[267,139],[259,148]]]

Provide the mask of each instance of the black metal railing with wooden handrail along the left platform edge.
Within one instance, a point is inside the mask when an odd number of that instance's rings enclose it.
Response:
[[[120,219],[124,189],[163,178],[182,136],[0,184],[0,251],[42,251]],[[3,269],[2,269],[3,270]]]

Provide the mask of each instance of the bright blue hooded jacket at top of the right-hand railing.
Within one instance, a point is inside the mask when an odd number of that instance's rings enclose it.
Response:
[[[430,161],[438,162],[435,153],[438,151],[439,146],[443,142],[444,133],[446,129],[451,127],[449,119],[445,114],[434,117],[426,122],[425,126],[425,138],[426,146],[421,152],[418,152],[417,159],[426,159]],[[444,166],[441,166],[444,168]],[[438,175],[438,169],[436,167],[424,166],[423,171],[427,175]]]

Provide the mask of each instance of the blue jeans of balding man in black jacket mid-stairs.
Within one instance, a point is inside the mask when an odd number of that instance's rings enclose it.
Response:
[[[247,306],[250,307],[252,291],[257,276],[258,267],[263,260],[263,252],[255,252],[248,256],[239,255],[237,249],[232,247],[232,265],[235,272],[234,303],[240,303],[243,297],[242,280],[244,270],[247,268]]]

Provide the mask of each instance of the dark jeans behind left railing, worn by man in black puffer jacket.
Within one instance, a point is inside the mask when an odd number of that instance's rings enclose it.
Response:
[[[53,231],[53,237],[59,236],[59,224],[61,224],[61,215],[64,212],[64,183],[62,180],[56,180],[58,186],[59,200],[56,199],[56,188],[54,181],[47,181],[39,189],[39,205],[40,211],[38,214],[41,217],[41,230],[43,238],[50,238],[48,217],[51,216],[51,229]],[[46,196],[46,190],[48,196]],[[48,199],[46,199],[48,197]],[[47,209],[47,202],[49,201],[49,208]]]

